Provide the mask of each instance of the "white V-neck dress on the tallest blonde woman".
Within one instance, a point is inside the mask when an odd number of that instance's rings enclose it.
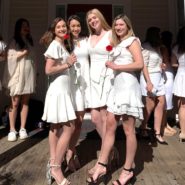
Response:
[[[94,47],[92,47],[90,43],[91,36],[88,39],[91,86],[90,108],[105,106],[110,92],[113,71],[105,66],[110,54],[106,50],[106,46],[110,45],[109,34],[110,31],[105,33],[105,35]]]

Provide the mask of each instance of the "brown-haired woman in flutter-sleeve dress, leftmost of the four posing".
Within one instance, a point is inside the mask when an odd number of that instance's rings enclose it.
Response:
[[[69,54],[64,46],[67,25],[62,18],[56,18],[49,30],[41,38],[41,43],[48,46],[44,53],[45,72],[50,76],[50,85],[46,93],[42,119],[50,125],[49,147],[50,160],[47,165],[47,180],[55,179],[58,185],[68,185],[61,164],[74,132],[76,119],[72,102],[69,68],[76,62],[76,56]]]

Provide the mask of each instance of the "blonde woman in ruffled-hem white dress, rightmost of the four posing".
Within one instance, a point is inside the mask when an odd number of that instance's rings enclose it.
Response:
[[[126,135],[126,159],[119,179],[112,183],[125,185],[134,175],[137,149],[135,121],[136,118],[143,119],[141,90],[135,73],[143,68],[141,44],[134,36],[131,22],[126,15],[121,14],[114,19],[112,43],[116,56],[114,61],[107,61],[106,66],[114,70],[115,77],[107,102],[106,133],[95,171],[87,181],[96,183],[99,177],[107,173],[106,167],[115,141],[117,122],[122,118]]]

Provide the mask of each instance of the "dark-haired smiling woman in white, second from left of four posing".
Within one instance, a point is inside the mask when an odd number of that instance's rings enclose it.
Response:
[[[81,36],[80,18],[77,15],[71,15],[68,18],[68,26],[74,43],[73,53],[77,57],[77,62],[70,70],[71,89],[77,119],[75,120],[75,131],[66,154],[66,162],[67,169],[75,171],[80,168],[75,146],[80,136],[85,110],[90,105],[89,53],[87,37]]]

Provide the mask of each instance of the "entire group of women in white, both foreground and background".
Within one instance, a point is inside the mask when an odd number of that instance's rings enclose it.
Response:
[[[49,76],[42,116],[50,124],[47,182],[70,184],[62,163],[66,163],[65,170],[80,168],[76,144],[88,109],[102,142],[97,162],[88,170],[87,182],[96,184],[108,173],[113,158],[110,156],[116,152],[117,123],[121,121],[126,158],[119,178],[112,183],[125,185],[134,177],[136,119],[141,120],[141,136],[148,137],[153,113],[153,136],[159,144],[167,145],[164,133],[176,132],[167,123],[167,112],[174,107],[175,96],[179,140],[185,140],[185,27],[179,29],[173,46],[172,34],[161,33],[158,27],[148,28],[141,43],[124,14],[116,16],[111,27],[98,9],[92,9],[86,14],[86,23],[89,35],[82,36],[77,15],[71,15],[67,21],[57,17],[40,39],[46,47],[45,73]],[[0,39],[0,57],[6,60],[2,85],[11,98],[8,141],[16,141],[18,134],[20,139],[26,139],[28,105],[35,92],[37,70],[29,21],[17,20],[13,39],[7,46]],[[19,104],[21,123],[17,133]]]

